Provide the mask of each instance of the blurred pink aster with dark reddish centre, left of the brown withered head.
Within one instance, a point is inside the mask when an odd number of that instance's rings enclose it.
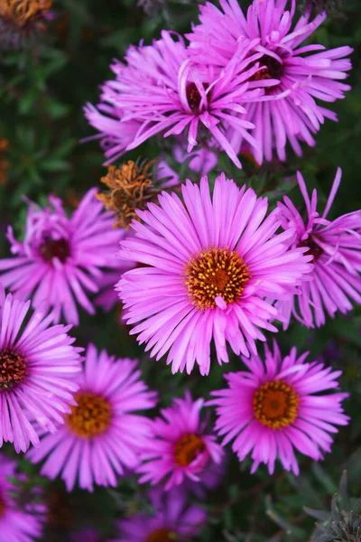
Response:
[[[121,235],[96,192],[88,191],[71,218],[53,196],[45,209],[30,203],[23,241],[8,231],[14,257],[0,259],[0,282],[22,299],[32,297],[35,308],[51,309],[57,322],[79,323],[76,302],[93,314],[88,293],[98,291],[102,270],[115,265]]]

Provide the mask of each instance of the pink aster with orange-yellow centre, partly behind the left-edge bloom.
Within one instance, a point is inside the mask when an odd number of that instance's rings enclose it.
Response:
[[[136,366],[137,361],[116,360],[88,346],[77,406],[56,435],[45,435],[28,453],[32,463],[47,458],[42,474],[52,480],[60,474],[68,491],[78,476],[80,488],[93,491],[94,483],[116,486],[116,474],[124,475],[139,463],[149,420],[134,412],[153,408],[157,400]]]

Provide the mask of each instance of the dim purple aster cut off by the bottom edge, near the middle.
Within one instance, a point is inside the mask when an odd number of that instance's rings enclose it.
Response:
[[[207,519],[204,509],[187,502],[187,494],[179,488],[149,492],[153,514],[138,513],[119,521],[119,537],[112,542],[170,542],[193,540]]]

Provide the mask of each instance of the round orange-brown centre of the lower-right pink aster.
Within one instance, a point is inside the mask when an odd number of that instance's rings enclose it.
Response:
[[[255,417],[271,429],[291,425],[297,417],[299,405],[299,396],[284,380],[263,384],[256,390],[253,401]]]

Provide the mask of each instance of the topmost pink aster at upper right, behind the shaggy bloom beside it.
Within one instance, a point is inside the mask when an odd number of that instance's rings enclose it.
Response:
[[[264,70],[254,78],[279,79],[277,86],[265,91],[269,96],[282,96],[247,107],[246,119],[255,125],[253,135],[258,144],[251,151],[259,164],[264,158],[272,159],[274,148],[280,160],[285,160],[287,142],[299,155],[301,141],[315,145],[312,135],[319,131],[325,118],[337,120],[336,114],[318,101],[334,102],[344,98],[344,92],[350,89],[339,79],[345,79],[351,69],[351,62],[345,57],[353,50],[347,46],[329,51],[318,44],[302,46],[326,14],[319,14],[313,21],[310,14],[304,14],[294,24],[296,0],[291,1],[289,11],[285,9],[287,4],[288,0],[254,0],[245,15],[237,0],[220,0],[222,11],[208,3],[200,6],[200,24],[187,36],[190,53],[197,61],[218,67],[227,65],[240,40],[260,40],[250,54],[262,53],[259,61]],[[239,133],[229,138],[234,148],[244,144]]]

